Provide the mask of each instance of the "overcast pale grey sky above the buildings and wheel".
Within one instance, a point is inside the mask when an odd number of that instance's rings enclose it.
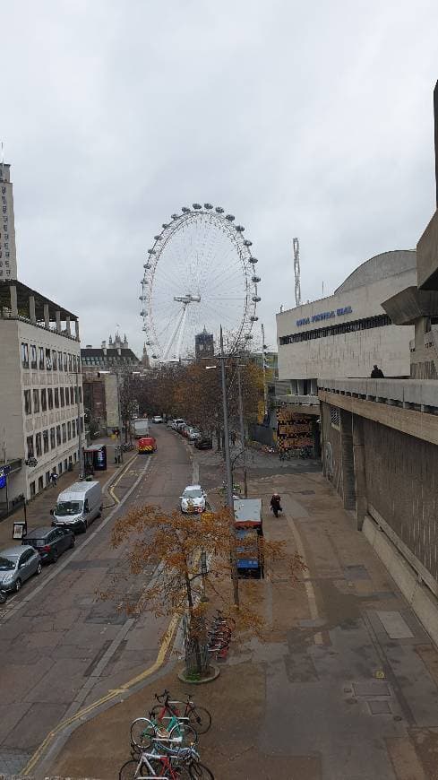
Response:
[[[436,0],[3,0],[0,138],[19,278],[140,351],[145,250],[172,212],[223,205],[262,276],[259,314],[434,211]]]

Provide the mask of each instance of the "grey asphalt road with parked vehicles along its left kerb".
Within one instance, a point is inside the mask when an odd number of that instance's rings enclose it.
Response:
[[[104,511],[103,521],[76,537],[74,550],[0,610],[0,774],[24,767],[60,720],[142,672],[157,655],[159,620],[126,618],[115,602],[99,598],[111,577],[125,572],[123,550],[110,546],[116,517],[136,503],[173,509],[192,479],[184,443],[159,429],[157,438],[159,452],[137,455],[117,484],[120,496],[136,485],[125,504]],[[124,581],[124,591],[140,595],[155,566],[152,561],[142,583]]]

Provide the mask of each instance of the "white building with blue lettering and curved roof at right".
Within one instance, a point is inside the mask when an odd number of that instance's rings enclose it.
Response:
[[[374,363],[385,377],[408,377],[414,327],[392,325],[382,301],[416,283],[415,251],[384,252],[328,298],[279,313],[281,393],[316,395],[319,378],[369,377]]]

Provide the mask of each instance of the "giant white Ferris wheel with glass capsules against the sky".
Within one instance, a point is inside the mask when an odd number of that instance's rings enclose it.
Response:
[[[257,258],[245,228],[220,206],[193,204],[174,213],[154,236],[143,265],[141,316],[153,360],[193,355],[204,328],[228,349],[251,342],[260,301]]]

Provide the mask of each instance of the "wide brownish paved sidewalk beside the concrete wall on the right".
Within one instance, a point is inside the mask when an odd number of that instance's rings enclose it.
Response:
[[[438,654],[407,602],[321,474],[249,487],[263,498],[267,537],[308,566],[295,587],[280,568],[257,584],[266,642],[232,646],[219,679],[192,689],[171,661],[73,732],[53,774],[114,778],[129,758],[131,722],[166,687],[210,709],[199,747],[217,780],[436,780]],[[278,520],[267,512],[274,488]]]

